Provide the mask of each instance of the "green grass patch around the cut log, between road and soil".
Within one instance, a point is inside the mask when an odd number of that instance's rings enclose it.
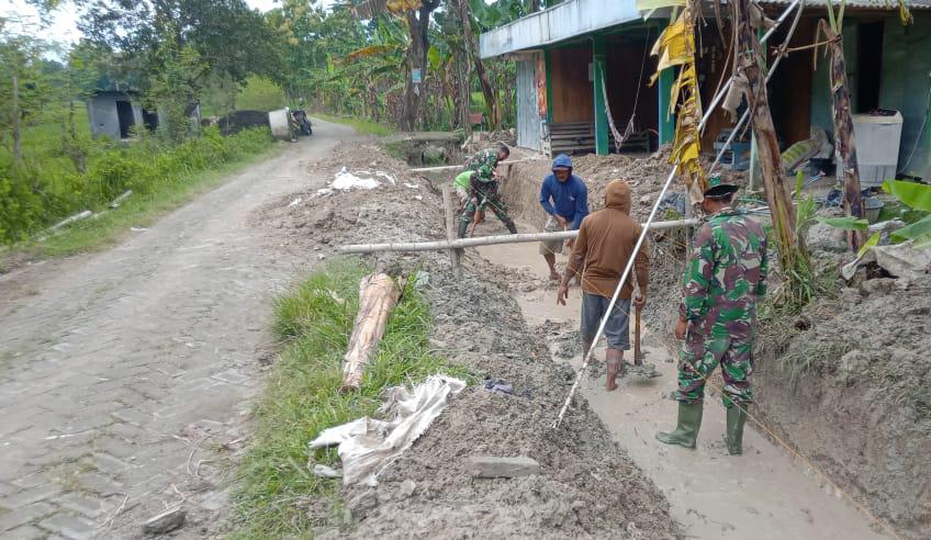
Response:
[[[370,416],[386,386],[444,372],[469,379],[429,348],[427,300],[408,284],[391,315],[378,356],[359,392],[341,394],[343,355],[359,307],[359,259],[326,263],[274,303],[272,330],[283,350],[256,406],[256,431],[239,469],[235,538],[294,538],[339,515],[339,480],[318,479],[307,466],[336,464],[334,449],[307,453],[323,429]]]

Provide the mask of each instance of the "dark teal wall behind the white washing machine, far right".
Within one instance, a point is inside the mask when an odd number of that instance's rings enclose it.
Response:
[[[931,88],[931,13],[913,11],[915,24],[902,26],[898,15],[889,15],[883,43],[883,77],[879,86],[879,106],[902,113],[902,138],[899,147],[899,169],[906,168],[911,149],[915,156],[907,167],[924,178],[931,178],[931,133],[928,122],[928,92]]]

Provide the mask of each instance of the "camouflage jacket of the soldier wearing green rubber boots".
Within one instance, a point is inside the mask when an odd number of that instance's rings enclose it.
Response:
[[[766,235],[759,223],[725,209],[695,234],[682,283],[682,318],[704,334],[754,324],[766,294]]]

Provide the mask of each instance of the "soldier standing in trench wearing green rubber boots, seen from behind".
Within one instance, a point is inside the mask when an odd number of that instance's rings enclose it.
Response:
[[[742,453],[743,424],[753,402],[753,338],[756,303],[766,293],[766,236],[763,227],[731,207],[736,185],[713,178],[702,207],[710,218],[695,234],[685,268],[675,335],[680,351],[678,425],[657,438],[695,448],[702,425],[705,381],[720,363],[727,408],[728,452]]]

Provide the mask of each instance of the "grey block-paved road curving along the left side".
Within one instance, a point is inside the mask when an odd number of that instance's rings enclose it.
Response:
[[[0,277],[0,537],[137,537],[179,504],[182,537],[214,530],[269,299],[306,270],[248,216],[351,137],[321,122],[114,249]]]

